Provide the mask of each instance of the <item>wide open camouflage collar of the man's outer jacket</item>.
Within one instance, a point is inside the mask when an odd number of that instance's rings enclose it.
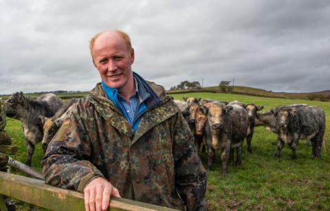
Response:
[[[121,133],[129,135],[134,143],[155,125],[175,115],[179,109],[177,109],[172,100],[166,97],[163,87],[155,85],[153,82],[146,82],[143,78],[141,80],[141,76],[135,73],[133,74],[137,76],[136,80],[140,80],[137,84],[140,86],[139,93],[141,96],[146,98],[146,93],[150,94],[148,98],[144,99],[146,100],[147,108],[145,113],[141,116],[140,124],[135,133],[122,115],[122,111],[107,98],[107,94],[104,92],[101,83],[98,83],[96,87],[89,92],[89,96],[91,97],[89,98],[89,102],[94,104],[94,108],[102,115],[104,120],[107,120],[109,124],[115,127],[115,129],[118,129]],[[163,104],[166,105],[162,106]]]

